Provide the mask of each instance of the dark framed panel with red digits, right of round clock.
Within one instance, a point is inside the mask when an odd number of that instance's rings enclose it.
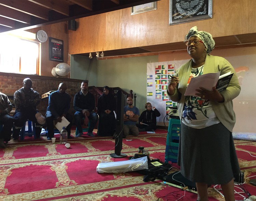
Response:
[[[49,37],[49,60],[63,62],[63,40]]]

